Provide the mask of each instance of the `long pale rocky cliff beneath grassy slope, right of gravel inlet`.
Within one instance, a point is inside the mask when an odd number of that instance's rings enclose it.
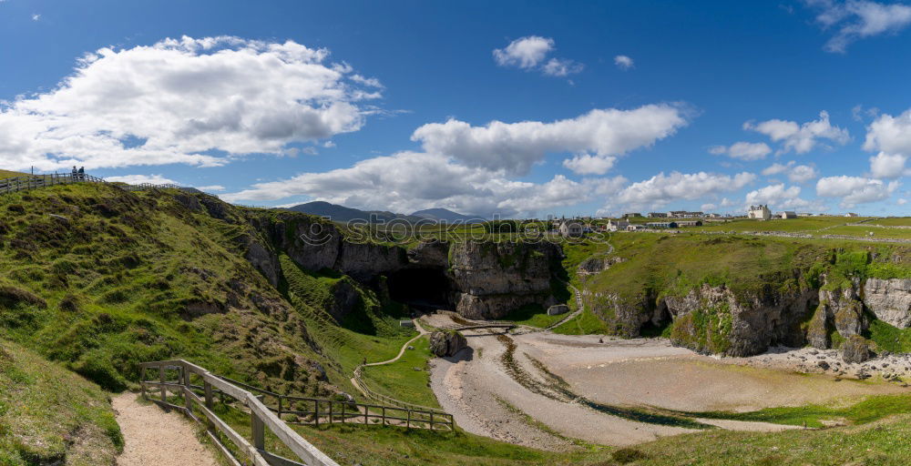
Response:
[[[901,311],[906,306],[904,280],[867,280],[862,287],[859,280],[827,285],[822,279],[820,289],[766,287],[735,293],[725,286],[703,284],[683,296],[623,300],[583,292],[583,299],[619,335],[637,337],[647,324],[671,325],[675,344],[728,356],[759,354],[777,345],[832,348],[836,335],[847,339],[865,333],[865,307],[879,309],[897,323],[906,316]],[[862,297],[862,289],[875,293],[865,291]]]

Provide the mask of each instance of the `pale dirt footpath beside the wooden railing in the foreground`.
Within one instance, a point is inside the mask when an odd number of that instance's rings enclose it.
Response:
[[[196,438],[189,420],[155,404],[141,404],[135,393],[113,399],[125,441],[118,466],[217,466],[212,452]]]

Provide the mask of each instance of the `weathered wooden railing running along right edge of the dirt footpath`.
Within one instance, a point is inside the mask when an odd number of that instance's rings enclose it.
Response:
[[[297,432],[293,431],[284,421],[279,419],[262,403],[259,397],[250,391],[243,390],[237,385],[212,375],[208,370],[202,369],[186,360],[167,360],[145,362],[139,365],[142,374],[142,396],[148,400],[149,389],[158,390],[158,400],[161,405],[181,410],[191,419],[200,424],[202,420],[197,416],[200,412],[206,418],[208,435],[219,447],[225,458],[234,466],[251,464],[254,466],[338,466],[338,463],[319,451],[310,442],[305,441]],[[158,380],[146,380],[148,370],[155,371]],[[174,374],[173,380],[169,376]],[[198,380],[193,383],[194,376]],[[213,412],[214,394],[227,395],[241,402],[250,411],[251,437],[248,441],[230,425],[221,420]],[[168,392],[183,400],[183,406],[172,404],[168,399]],[[197,394],[201,391],[202,395]],[[266,451],[265,430],[269,430],[286,446],[293,451],[301,461],[292,461]],[[233,448],[230,448],[230,444]],[[241,462],[242,461],[242,462]]]

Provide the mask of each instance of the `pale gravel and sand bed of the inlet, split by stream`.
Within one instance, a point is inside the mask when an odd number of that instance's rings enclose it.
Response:
[[[423,319],[435,327],[453,325],[445,315]],[[468,330],[465,334],[470,349],[454,359],[432,361],[431,385],[436,397],[466,431],[556,451],[572,448],[569,439],[625,446],[691,431],[622,419],[571,400],[559,400],[552,393],[545,396],[529,390],[527,382],[519,383],[506,370],[501,360],[506,346],[495,333]],[[566,380],[572,392],[613,406],[758,410],[909,390],[901,381],[885,381],[896,373],[907,374],[896,370],[904,370],[906,356],[845,365],[835,351],[814,349],[773,349],[752,358],[715,358],[675,348],[666,339],[550,332],[510,338],[517,345],[517,365],[535,381],[547,382],[532,359]],[[858,374],[861,378],[870,375],[872,380],[850,380]],[[529,423],[526,416],[546,427]],[[701,421],[738,431],[793,429],[763,422]]]

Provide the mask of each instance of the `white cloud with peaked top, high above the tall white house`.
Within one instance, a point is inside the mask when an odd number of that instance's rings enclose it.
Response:
[[[805,154],[813,150],[819,139],[828,139],[837,144],[847,144],[851,137],[847,129],[833,127],[829,123],[828,112],[820,112],[819,119],[809,121],[803,125],[794,121],[772,119],[760,123],[746,122],[743,129],[750,129],[770,137],[774,142],[782,142],[783,148],[779,153],[793,150],[797,154]]]

